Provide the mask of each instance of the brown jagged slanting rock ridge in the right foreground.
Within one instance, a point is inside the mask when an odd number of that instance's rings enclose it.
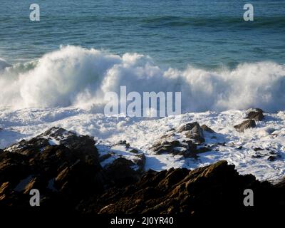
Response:
[[[189,216],[246,210],[243,192],[252,189],[256,212],[271,204],[274,187],[252,175],[239,175],[234,165],[220,161],[196,170],[170,169],[148,171],[140,182],[125,188],[110,189],[100,198],[83,202],[86,213],[107,214],[187,214]],[[266,197],[266,194],[268,197]],[[280,197],[280,195],[279,195]],[[285,206],[283,201],[273,202]]]

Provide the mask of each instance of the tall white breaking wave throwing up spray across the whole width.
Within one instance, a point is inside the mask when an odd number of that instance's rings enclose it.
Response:
[[[8,66],[1,60],[0,106],[13,108],[104,105],[107,91],[181,91],[182,111],[251,107],[285,108],[285,66],[243,63],[234,70],[206,71],[188,66],[162,70],[148,56],[113,55],[65,46],[38,61]]]

